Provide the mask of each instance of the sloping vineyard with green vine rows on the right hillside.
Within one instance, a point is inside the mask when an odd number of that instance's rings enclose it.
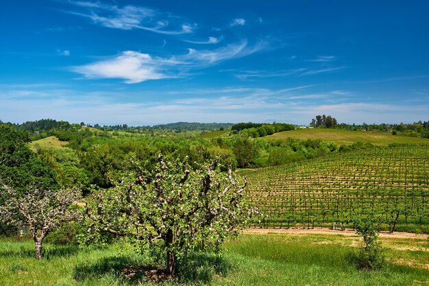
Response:
[[[377,147],[245,171],[265,228],[352,227],[373,214],[380,230],[429,228],[429,147]]]

